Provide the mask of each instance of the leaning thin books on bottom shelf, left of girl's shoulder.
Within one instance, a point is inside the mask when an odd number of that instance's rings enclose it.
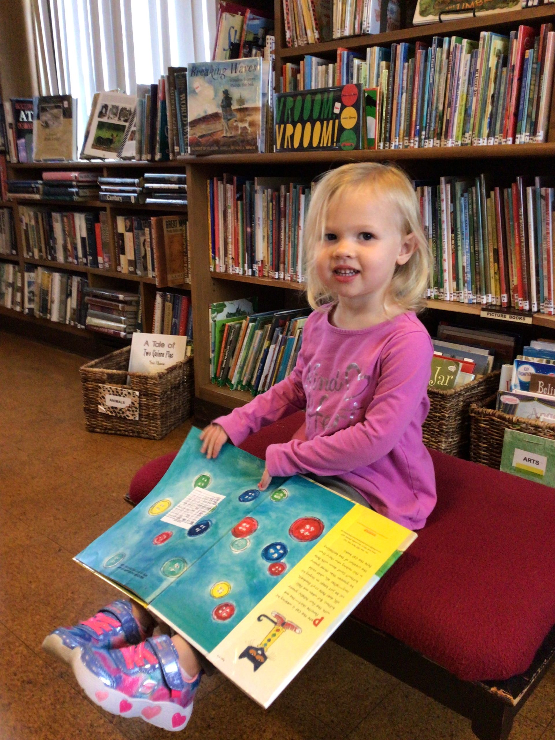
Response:
[[[255,312],[240,299],[210,306],[212,383],[263,393],[295,367],[310,309]]]

